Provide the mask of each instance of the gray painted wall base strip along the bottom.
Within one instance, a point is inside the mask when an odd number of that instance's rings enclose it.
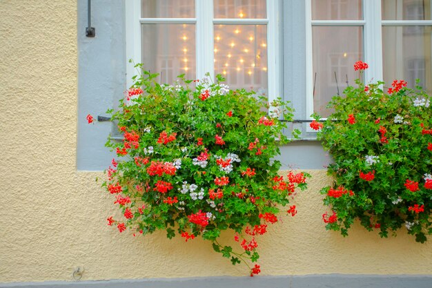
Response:
[[[29,288],[431,288],[432,276],[310,275],[208,278],[152,278],[75,282],[12,282],[0,287]]]

